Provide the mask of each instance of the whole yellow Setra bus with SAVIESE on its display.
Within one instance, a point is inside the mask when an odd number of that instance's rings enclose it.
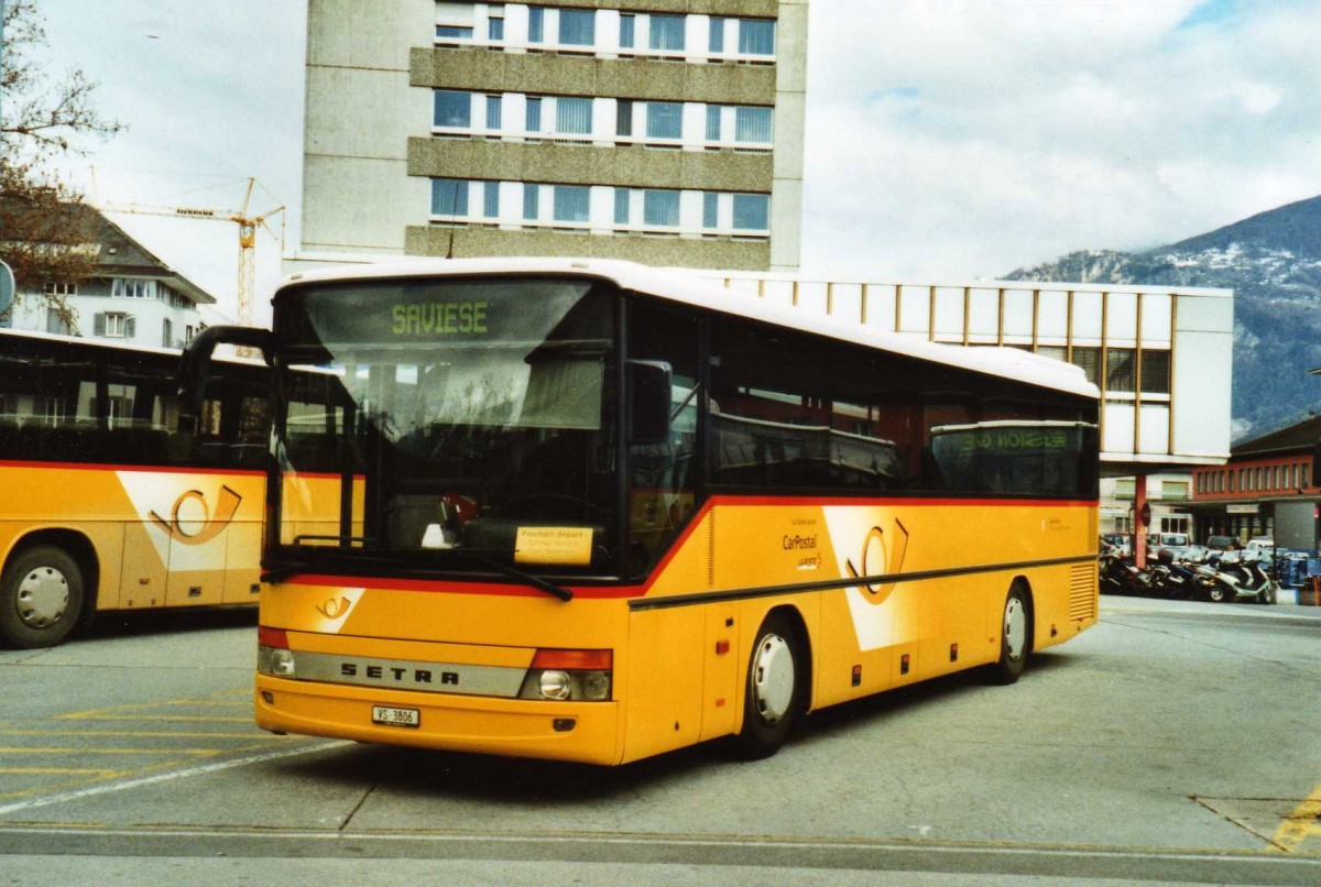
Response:
[[[1098,392],[1067,364],[616,261],[324,269],[273,305],[267,730],[762,756],[1096,622]]]

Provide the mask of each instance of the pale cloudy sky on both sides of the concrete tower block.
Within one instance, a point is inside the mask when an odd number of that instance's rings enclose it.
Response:
[[[210,207],[256,177],[297,247],[305,0],[41,5],[52,73],[82,67],[128,124],[75,177]],[[995,277],[1321,194],[1316,34],[1316,0],[814,0],[803,271]],[[232,301],[232,226],[122,220]]]

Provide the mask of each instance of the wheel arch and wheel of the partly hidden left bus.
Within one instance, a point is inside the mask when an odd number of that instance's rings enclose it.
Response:
[[[95,610],[99,568],[91,542],[71,531],[24,536],[0,568],[0,639],[53,647]]]

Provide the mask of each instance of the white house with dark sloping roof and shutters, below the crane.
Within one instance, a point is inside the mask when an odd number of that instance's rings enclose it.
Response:
[[[41,293],[22,292],[0,327],[114,339],[178,348],[205,327],[201,305],[215,298],[178,273],[98,210],[70,206],[87,231],[83,248],[95,252],[92,273],[81,281],[46,281],[46,294],[62,296],[67,314],[48,306]]]

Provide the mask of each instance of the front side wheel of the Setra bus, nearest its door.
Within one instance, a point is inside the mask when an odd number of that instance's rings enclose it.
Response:
[[[802,717],[807,663],[798,631],[783,614],[771,612],[757,630],[748,657],[738,752],[745,760],[770,758],[785,744]]]

